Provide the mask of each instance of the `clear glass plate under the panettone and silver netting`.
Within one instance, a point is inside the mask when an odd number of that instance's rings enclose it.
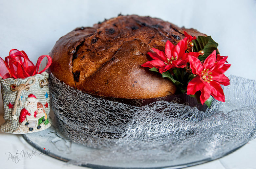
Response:
[[[40,132],[23,134],[23,138],[33,146],[34,150],[53,157],[55,159],[70,162],[75,165],[81,165],[90,168],[184,168],[213,161],[226,156],[243,145],[233,147],[230,151],[215,154],[214,158],[207,158],[204,155],[195,153],[193,156],[183,155],[179,159],[170,161],[147,160],[138,161],[133,157],[122,156],[120,161],[111,158],[100,158],[102,149],[89,148],[82,144],[75,144],[65,138],[61,132],[53,127],[49,127]],[[136,152],[135,152],[136,153]],[[171,156],[171,154],[170,154]],[[86,161],[86,162],[77,162]]]

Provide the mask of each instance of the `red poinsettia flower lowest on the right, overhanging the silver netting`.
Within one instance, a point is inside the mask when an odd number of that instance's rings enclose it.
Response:
[[[225,102],[223,89],[220,85],[229,85],[229,79],[223,74],[231,64],[225,64],[227,57],[216,62],[216,51],[213,51],[203,65],[199,59],[188,56],[192,73],[197,75],[187,86],[187,94],[201,91],[200,101],[203,103],[212,95],[216,100]]]

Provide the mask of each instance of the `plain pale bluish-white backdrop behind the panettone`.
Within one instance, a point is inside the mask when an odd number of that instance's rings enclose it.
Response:
[[[228,62],[232,64],[226,76],[232,74],[256,80],[255,0],[1,0],[0,56],[5,58],[12,48],[16,48],[24,50],[36,63],[40,55],[49,54],[61,36],[76,27],[92,26],[119,13],[149,15],[211,35],[219,43],[220,54],[228,56]],[[2,112],[2,100],[0,107]],[[249,164],[241,163],[244,167]]]

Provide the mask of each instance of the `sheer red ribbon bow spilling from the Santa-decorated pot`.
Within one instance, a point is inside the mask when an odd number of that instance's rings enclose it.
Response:
[[[41,61],[44,57],[47,57],[48,62],[45,68],[38,72]],[[41,74],[52,63],[52,58],[48,55],[42,55],[37,59],[36,65],[28,58],[28,55],[22,50],[11,49],[9,56],[4,59],[0,57],[0,76],[3,79],[6,78],[26,78],[34,76],[35,74]]]

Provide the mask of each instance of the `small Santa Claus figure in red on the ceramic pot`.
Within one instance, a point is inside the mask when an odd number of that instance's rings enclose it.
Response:
[[[39,99],[37,99],[35,95],[33,94],[28,95],[28,98],[24,102],[24,108],[20,111],[20,116],[19,116],[20,127],[26,127],[28,125],[28,122],[26,120],[27,116],[36,117],[38,102],[39,102]],[[32,129],[30,128],[30,130]]]

